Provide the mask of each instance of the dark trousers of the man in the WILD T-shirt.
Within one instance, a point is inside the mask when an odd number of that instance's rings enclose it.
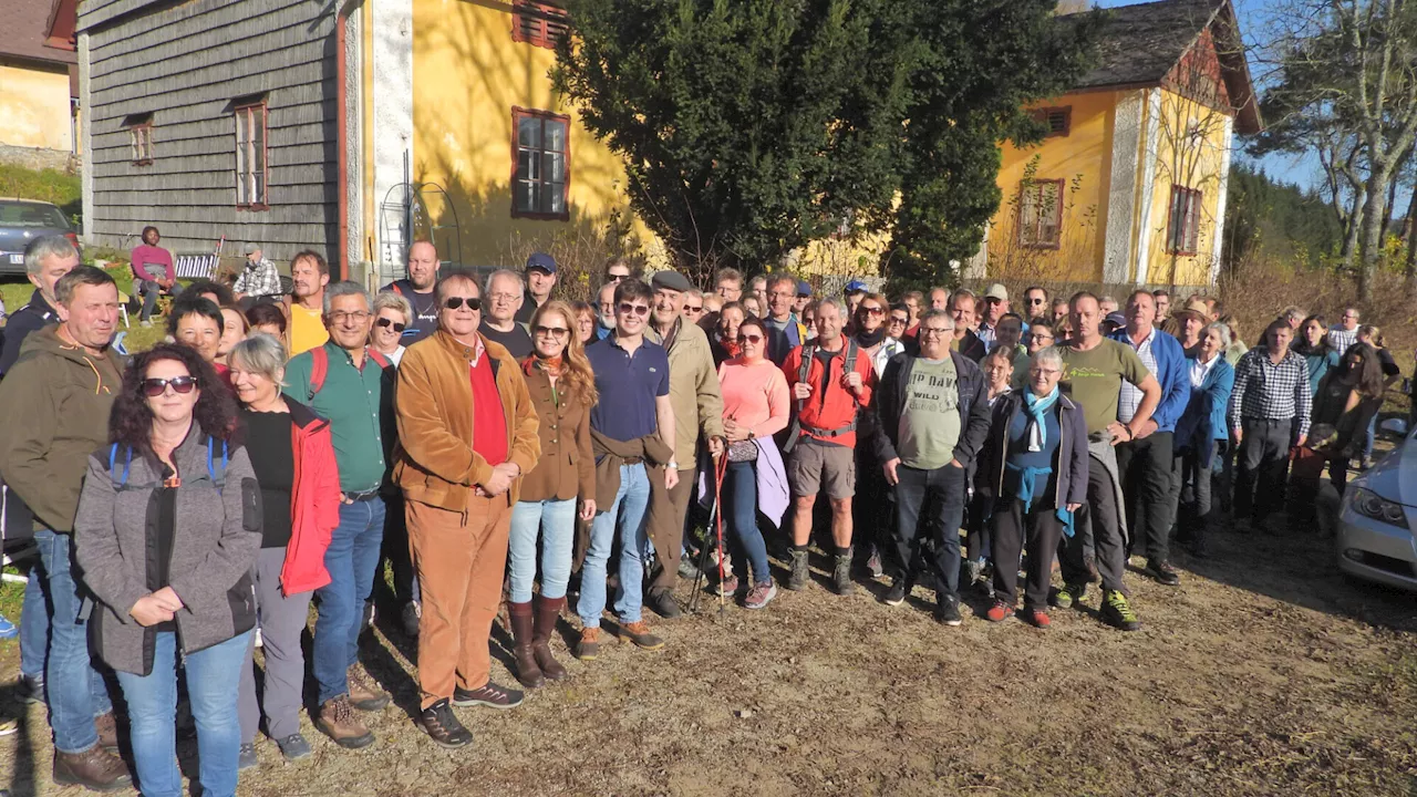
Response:
[[[921,539],[934,543],[931,562],[939,593],[959,594],[959,523],[965,515],[965,469],[954,465],[922,471],[898,465],[896,475],[896,566],[910,576]]]

